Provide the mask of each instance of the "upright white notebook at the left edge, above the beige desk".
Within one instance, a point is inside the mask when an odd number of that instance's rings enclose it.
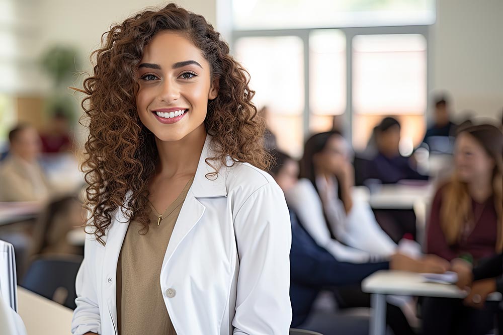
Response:
[[[18,311],[16,261],[11,243],[0,240],[0,299]]]

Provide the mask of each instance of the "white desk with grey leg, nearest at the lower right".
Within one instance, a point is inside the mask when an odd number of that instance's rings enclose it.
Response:
[[[386,296],[410,295],[423,297],[464,298],[466,293],[455,285],[425,283],[421,274],[405,271],[378,271],[362,282],[362,290],[372,294],[370,335],[386,333]],[[487,300],[499,301],[501,294],[493,293]]]

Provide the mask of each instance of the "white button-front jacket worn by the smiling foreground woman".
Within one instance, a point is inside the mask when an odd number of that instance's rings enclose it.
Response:
[[[208,135],[164,255],[166,309],[179,335],[286,335],[291,228],[284,195],[270,175],[248,163],[222,166],[216,179],[207,179],[210,142]],[[117,333],[116,270],[128,223],[117,210],[106,246],[92,235],[86,239],[73,334]]]

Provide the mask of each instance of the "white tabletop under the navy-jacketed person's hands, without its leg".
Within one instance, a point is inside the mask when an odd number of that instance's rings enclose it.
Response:
[[[412,295],[425,297],[464,298],[466,292],[455,285],[425,283],[421,274],[382,270],[378,271],[362,282],[362,290],[372,294]],[[493,293],[488,300],[501,300],[501,294]]]

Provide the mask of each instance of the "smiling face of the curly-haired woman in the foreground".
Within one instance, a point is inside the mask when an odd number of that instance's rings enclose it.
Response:
[[[178,141],[204,127],[208,100],[217,96],[210,64],[188,39],[157,33],[145,46],[137,70],[136,108],[141,122],[161,141]]]

